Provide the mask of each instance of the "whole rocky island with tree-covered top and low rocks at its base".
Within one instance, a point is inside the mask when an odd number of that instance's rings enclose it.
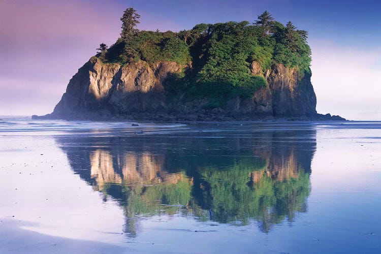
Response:
[[[34,119],[344,120],[316,112],[307,31],[265,11],[190,30],[138,30],[126,9],[120,38],[102,43],[51,114]]]

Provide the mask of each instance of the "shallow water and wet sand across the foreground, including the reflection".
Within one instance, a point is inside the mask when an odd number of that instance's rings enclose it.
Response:
[[[380,122],[0,117],[0,252],[381,252]]]

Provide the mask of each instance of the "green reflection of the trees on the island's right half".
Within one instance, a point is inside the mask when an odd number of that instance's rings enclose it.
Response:
[[[210,219],[221,223],[247,224],[254,218],[267,232],[284,217],[290,221],[296,211],[305,211],[309,194],[309,176],[300,172],[296,178],[272,180],[264,170],[256,183],[252,172],[239,167],[226,171],[205,168],[197,190],[198,204],[210,211]]]

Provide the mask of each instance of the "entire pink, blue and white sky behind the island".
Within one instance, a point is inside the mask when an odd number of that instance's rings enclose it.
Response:
[[[268,10],[309,33],[318,113],[381,120],[381,1],[0,0],[0,115],[52,112],[100,43],[120,34],[123,10],[139,29],[190,29]]]

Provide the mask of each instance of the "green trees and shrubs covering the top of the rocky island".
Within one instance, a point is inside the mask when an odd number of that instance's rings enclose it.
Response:
[[[179,63],[184,72],[173,74],[165,85],[169,98],[205,99],[205,107],[213,108],[234,96],[250,97],[267,85],[262,76],[250,72],[252,61],[257,61],[262,71],[283,63],[302,75],[310,73],[307,31],[298,30],[291,21],[284,26],[267,11],[252,24],[198,24],[178,33],[139,31],[139,18],[133,8],[126,9],[121,18],[121,37],[108,49],[101,44],[97,56],[103,62],[120,65],[139,60],[149,65],[158,61]]]

